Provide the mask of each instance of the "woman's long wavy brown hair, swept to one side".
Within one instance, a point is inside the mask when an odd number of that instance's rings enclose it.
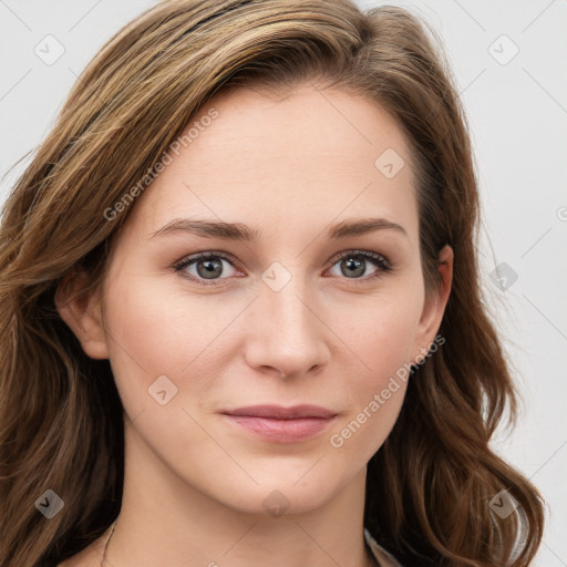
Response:
[[[11,192],[0,233],[0,566],[55,565],[100,537],[122,498],[122,404],[107,360],[61,320],[81,266],[104,277],[120,227],[104,212],[230,85],[318,84],[361,94],[403,130],[419,179],[426,289],[455,255],[440,333],[368,467],[364,525],[406,566],[527,566],[542,538],[535,487],[489,449],[516,398],[478,285],[478,194],[466,120],[434,33],[400,8],[347,0],[167,0],[118,31],[72,89]],[[64,502],[45,519],[37,499]],[[491,499],[518,507],[506,518]]]

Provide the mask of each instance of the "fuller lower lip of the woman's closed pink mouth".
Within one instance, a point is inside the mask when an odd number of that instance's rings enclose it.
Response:
[[[321,433],[334,417],[276,420],[247,415],[228,415],[230,422],[274,443],[298,443]]]

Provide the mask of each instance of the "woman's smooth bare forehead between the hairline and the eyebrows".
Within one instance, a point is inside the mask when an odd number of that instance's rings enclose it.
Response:
[[[403,134],[362,96],[312,86],[286,96],[221,92],[181,140],[136,204],[144,231],[179,216],[291,228],[369,213],[416,229]]]

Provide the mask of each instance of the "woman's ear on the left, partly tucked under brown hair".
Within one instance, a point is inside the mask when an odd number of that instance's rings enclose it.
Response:
[[[89,284],[89,274],[84,270],[72,270],[65,275],[55,291],[55,307],[84,352],[92,359],[107,359],[99,290],[92,291]]]

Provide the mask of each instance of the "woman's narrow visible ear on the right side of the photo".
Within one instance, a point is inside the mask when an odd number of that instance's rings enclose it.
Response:
[[[444,246],[439,252],[437,270],[441,281],[437,289],[432,290],[429,297],[425,298],[415,337],[413,363],[419,364],[426,358],[441,327],[453,282],[453,248],[449,245]]]

